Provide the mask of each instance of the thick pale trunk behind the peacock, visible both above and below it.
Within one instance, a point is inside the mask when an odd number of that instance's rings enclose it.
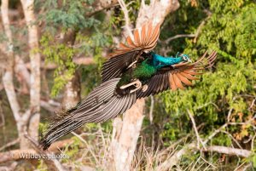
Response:
[[[128,10],[125,3],[119,0],[120,6],[127,18]],[[177,0],[151,0],[147,5],[142,1],[138,14],[136,27],[143,26],[146,21],[153,21],[153,24],[162,23],[167,14],[177,10],[179,3]],[[129,20],[125,20],[125,35],[129,35]],[[116,118],[113,122],[113,137],[110,148],[109,168],[111,170],[131,170],[131,162],[137,146],[137,139],[143,124],[143,109],[145,100],[137,100],[130,110],[125,112],[123,121]]]

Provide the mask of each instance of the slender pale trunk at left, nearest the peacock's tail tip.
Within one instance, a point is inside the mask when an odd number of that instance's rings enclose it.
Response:
[[[28,45],[30,48],[29,57],[31,63],[30,77],[30,123],[28,134],[34,139],[38,139],[38,127],[40,122],[40,54],[35,50],[38,45],[38,27],[35,25],[36,17],[34,14],[34,1],[21,0],[25,15],[26,26],[28,28]]]

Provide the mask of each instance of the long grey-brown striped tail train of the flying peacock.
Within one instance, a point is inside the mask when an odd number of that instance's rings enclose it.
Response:
[[[84,123],[101,123],[131,108],[131,105],[136,102],[136,94],[127,94],[123,97],[114,94],[119,79],[114,78],[102,83],[69,115],[50,126],[40,141],[43,149],[48,149],[55,140],[81,127]]]

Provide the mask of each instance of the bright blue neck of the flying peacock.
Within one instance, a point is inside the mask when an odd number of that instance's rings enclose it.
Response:
[[[182,57],[177,57],[177,58],[173,58],[172,56],[164,57],[154,53],[152,53],[152,56],[153,56],[152,64],[156,69],[160,69],[161,67],[164,67],[164,66],[171,66],[174,64],[178,64],[182,61]]]

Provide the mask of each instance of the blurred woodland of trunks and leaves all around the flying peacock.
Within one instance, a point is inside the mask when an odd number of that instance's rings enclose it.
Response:
[[[99,85],[108,53],[150,20],[158,54],[216,50],[215,66],[40,151],[55,111]],[[256,169],[255,0],[2,0],[0,23],[0,170]],[[69,158],[19,156],[50,152]]]

